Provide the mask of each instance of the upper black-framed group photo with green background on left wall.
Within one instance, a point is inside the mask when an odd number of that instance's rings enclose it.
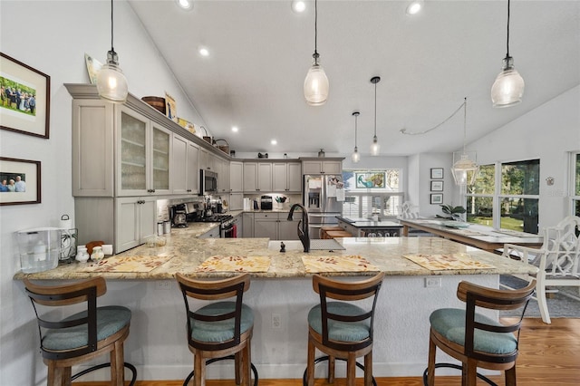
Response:
[[[0,53],[0,129],[48,138],[51,77]]]

